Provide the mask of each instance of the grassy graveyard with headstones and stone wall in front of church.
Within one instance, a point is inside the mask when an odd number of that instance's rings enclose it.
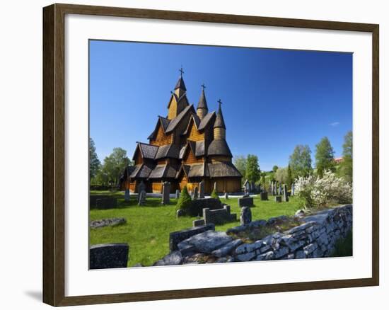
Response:
[[[169,186],[168,183],[163,184],[163,188]],[[91,200],[96,200],[94,196],[104,196],[104,199],[109,198],[107,201],[116,201],[116,205],[110,205],[110,208],[100,207],[90,211],[91,246],[98,248],[93,248],[93,251],[106,255],[108,259],[112,256],[109,251],[117,251],[123,259],[123,251],[128,251],[127,267],[330,256],[337,239],[346,236],[352,226],[352,207],[349,206],[342,208],[347,210],[346,215],[340,217],[340,223],[331,226],[332,231],[323,227],[319,230],[308,229],[312,223],[308,227],[306,222],[315,220],[320,227],[323,219],[320,215],[315,217],[312,212],[306,214],[301,210],[301,200],[288,194],[285,187],[277,188],[275,194],[281,195],[276,196],[267,192],[245,191],[241,195],[220,194],[217,199],[203,195],[204,198],[200,198],[199,193],[191,193],[189,213],[176,209],[182,193],[169,195],[169,188],[162,192],[160,195],[146,194],[144,190],[131,195],[123,192],[91,192]],[[242,199],[250,202],[242,205]],[[330,214],[335,213],[330,211]],[[331,215],[332,218],[335,215]],[[298,226],[303,226],[303,229],[296,229]],[[322,236],[324,232],[330,235]],[[304,239],[301,239],[302,236]],[[314,246],[311,245],[313,236],[320,237]],[[300,239],[294,240],[297,237]],[[271,239],[272,244],[276,245],[269,247],[263,238]],[[330,246],[325,244],[328,246],[325,251],[320,243],[322,239],[332,240]],[[281,240],[287,242],[289,247],[277,243]],[[258,245],[258,241],[263,241],[260,247],[248,246]],[[289,243],[293,243],[293,246],[290,247]],[[319,243],[322,246],[320,250],[317,246]],[[116,248],[117,244],[119,248]],[[122,244],[128,248],[123,249]],[[248,250],[252,248],[255,250]],[[91,254],[91,258],[97,259],[97,256]],[[98,264],[104,265],[103,260]],[[115,264],[120,265],[116,260]],[[106,265],[103,268],[113,267]]]

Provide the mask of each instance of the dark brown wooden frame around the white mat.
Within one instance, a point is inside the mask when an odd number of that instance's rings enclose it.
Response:
[[[372,162],[372,277],[352,280],[245,285],[204,289],[178,289],[127,294],[65,296],[65,110],[64,110],[64,20],[66,14],[152,18],[275,27],[347,30],[372,34],[373,156]],[[237,294],[290,292],[309,289],[364,287],[379,284],[379,110],[378,110],[379,26],[367,23],[310,21],[290,18],[234,16],[214,13],[159,11],[139,8],[53,4],[43,8],[43,302],[52,306],[137,302],[158,299],[214,297]]]

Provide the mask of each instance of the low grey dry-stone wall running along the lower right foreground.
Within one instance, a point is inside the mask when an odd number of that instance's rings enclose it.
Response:
[[[268,221],[257,220],[228,229],[227,234],[222,231],[203,230],[188,239],[180,238],[174,248],[170,246],[170,251],[175,251],[158,261],[158,264],[178,265],[328,257],[334,251],[335,243],[344,238],[352,229],[352,205],[325,209],[303,217],[299,219],[302,224],[282,233],[270,234],[252,243],[244,243],[242,239],[234,239],[232,235],[228,235],[236,231],[258,229],[261,226],[272,225],[274,222],[278,223],[286,219],[282,216]]]

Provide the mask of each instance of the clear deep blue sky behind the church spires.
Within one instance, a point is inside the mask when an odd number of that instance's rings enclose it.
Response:
[[[296,144],[327,136],[335,156],[352,130],[352,54],[243,47],[90,42],[90,134],[103,162],[148,142],[183,67],[195,107],[206,85],[219,98],[234,156],[256,154],[262,170],[286,166]]]

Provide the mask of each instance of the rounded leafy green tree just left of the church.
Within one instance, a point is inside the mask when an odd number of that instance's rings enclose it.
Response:
[[[120,147],[115,147],[110,156],[105,157],[101,175],[108,179],[108,182],[117,184],[117,180],[124,171],[124,168],[129,166],[131,161],[127,157],[127,151]]]

